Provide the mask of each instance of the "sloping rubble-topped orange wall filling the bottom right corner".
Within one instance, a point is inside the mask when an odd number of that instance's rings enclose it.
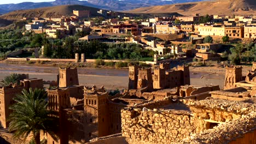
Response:
[[[219,124],[218,127],[195,134],[181,143],[256,143],[256,114],[249,113],[235,121]]]

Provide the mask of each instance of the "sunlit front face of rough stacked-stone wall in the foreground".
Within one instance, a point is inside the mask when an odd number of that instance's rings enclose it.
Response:
[[[123,136],[154,143],[179,142],[195,132],[194,117],[185,111],[135,111],[123,109]]]

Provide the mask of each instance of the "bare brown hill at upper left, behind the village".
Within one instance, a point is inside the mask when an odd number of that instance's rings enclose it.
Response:
[[[97,14],[98,9],[86,7],[83,5],[59,5],[55,7],[45,7],[38,9],[16,10],[10,13],[1,15],[0,18],[6,20],[20,20],[22,17],[61,17],[72,16],[73,10],[90,10],[92,16],[100,16]]]

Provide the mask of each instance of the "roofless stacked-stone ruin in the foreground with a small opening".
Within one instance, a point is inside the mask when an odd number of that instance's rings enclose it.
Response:
[[[243,116],[251,115],[255,109],[253,107],[254,105],[248,103],[228,100],[154,101],[121,111],[122,135],[126,140],[133,140],[133,143],[228,143],[232,141],[232,137],[237,138],[238,135],[228,132],[232,131],[229,129],[232,127],[229,123],[238,124]],[[250,129],[255,128],[252,119],[249,125]],[[253,125],[254,127],[251,127]],[[225,131],[228,133],[220,135],[222,131],[218,131],[217,136],[211,135],[216,129],[223,127],[226,127]],[[208,135],[200,139],[200,134]],[[215,141],[211,137],[214,137]],[[127,143],[132,143],[128,140]]]

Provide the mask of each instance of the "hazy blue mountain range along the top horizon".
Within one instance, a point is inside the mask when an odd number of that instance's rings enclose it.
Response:
[[[149,7],[152,5],[165,5],[174,3],[184,3],[184,2],[197,2],[202,0],[172,0],[172,1],[161,1],[161,0],[88,0],[88,1],[78,1],[78,0],[56,0],[53,2],[41,2],[32,3],[24,2],[18,4],[0,4],[0,14],[8,13],[14,10],[22,9],[36,9],[43,7],[53,7],[56,5],[85,5],[88,7],[108,9],[115,11],[130,10],[141,7]]]

